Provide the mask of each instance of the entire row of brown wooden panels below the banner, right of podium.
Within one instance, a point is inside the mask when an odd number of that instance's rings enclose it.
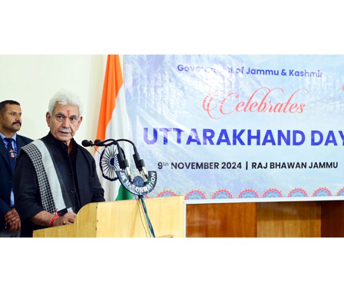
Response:
[[[187,204],[186,237],[344,237],[344,201]]]

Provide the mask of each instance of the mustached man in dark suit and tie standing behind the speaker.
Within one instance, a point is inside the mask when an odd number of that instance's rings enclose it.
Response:
[[[19,237],[20,218],[14,206],[13,172],[19,149],[32,142],[17,135],[22,124],[20,104],[0,102],[0,237]]]

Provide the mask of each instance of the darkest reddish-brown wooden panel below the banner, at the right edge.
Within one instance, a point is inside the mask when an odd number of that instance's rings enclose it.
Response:
[[[321,202],[321,237],[344,237],[344,202]]]

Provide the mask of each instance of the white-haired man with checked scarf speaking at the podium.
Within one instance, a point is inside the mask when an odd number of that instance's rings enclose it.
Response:
[[[20,150],[13,179],[21,237],[72,224],[84,205],[105,201],[93,157],[73,139],[82,114],[78,96],[56,92],[45,116],[49,133]]]

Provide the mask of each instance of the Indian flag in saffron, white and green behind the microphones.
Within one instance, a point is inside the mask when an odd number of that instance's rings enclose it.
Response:
[[[110,138],[125,138],[130,140],[126,97],[119,55],[108,55],[107,57],[97,130],[97,139],[103,141]],[[120,145],[125,151],[126,158],[130,162],[130,144],[120,142]],[[131,199],[131,194],[121,186],[118,179],[116,181],[110,181],[102,176],[99,160],[104,147],[99,147],[97,150],[94,159],[99,180],[105,191],[105,200],[115,201],[116,199]]]

